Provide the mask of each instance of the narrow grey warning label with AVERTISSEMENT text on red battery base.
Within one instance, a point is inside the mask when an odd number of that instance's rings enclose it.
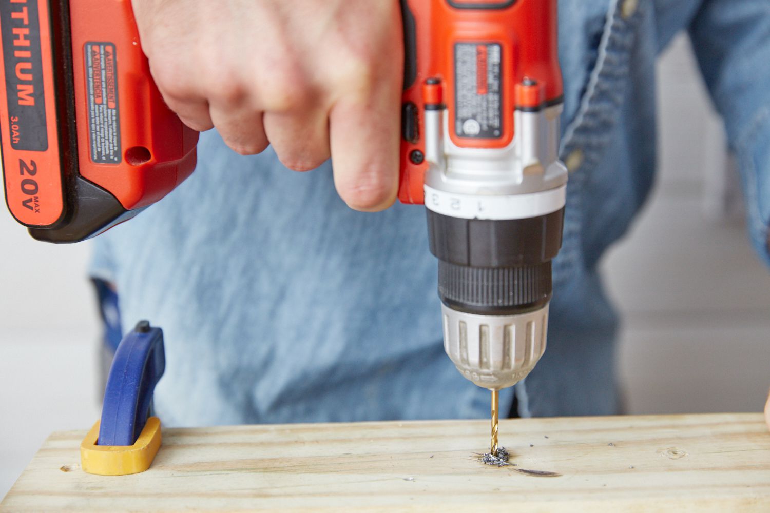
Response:
[[[91,160],[99,164],[118,164],[122,152],[115,45],[85,43],[85,79]]]

